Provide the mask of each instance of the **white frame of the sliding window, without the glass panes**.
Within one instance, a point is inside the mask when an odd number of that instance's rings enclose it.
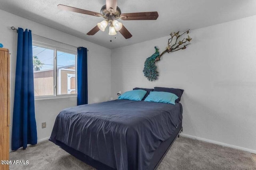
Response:
[[[77,97],[77,51],[76,49],[64,49],[62,47],[57,47],[56,45],[50,45],[48,43],[40,42],[40,41],[35,41],[32,40],[32,45],[37,46],[37,47],[42,47],[46,49],[52,49],[54,50],[54,63],[53,63],[53,69],[54,69],[54,95],[50,96],[35,96],[35,100],[47,100],[47,99],[57,99],[57,98],[71,98],[71,97]],[[62,45],[63,46],[63,45]],[[76,55],[76,61],[75,61],[75,75],[76,75],[76,94],[58,94],[58,88],[57,87],[57,51],[64,52],[64,53],[69,53],[69,54],[74,54]]]

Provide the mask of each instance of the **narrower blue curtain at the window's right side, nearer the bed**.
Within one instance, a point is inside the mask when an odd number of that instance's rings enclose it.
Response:
[[[88,104],[87,48],[77,49],[77,105]]]

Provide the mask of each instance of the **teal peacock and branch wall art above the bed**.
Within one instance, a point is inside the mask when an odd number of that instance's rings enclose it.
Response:
[[[156,52],[152,56],[148,57],[144,63],[143,73],[144,76],[148,78],[148,80],[157,80],[158,71],[156,67],[156,62],[160,61],[160,58],[162,57],[162,55],[164,55],[164,53],[184,50],[186,49],[187,45],[190,44],[192,38],[190,38],[189,35],[187,38],[183,38],[182,40],[180,40],[180,37],[185,33],[188,34],[189,30],[185,31],[182,34],[180,34],[180,31],[170,33],[171,38],[168,39],[167,47],[161,54],[159,53],[159,49],[155,47]]]

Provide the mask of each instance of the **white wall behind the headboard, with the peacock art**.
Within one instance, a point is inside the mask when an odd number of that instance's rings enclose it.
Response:
[[[256,16],[192,30],[186,50],[162,56],[154,82],[143,75],[144,61],[154,46],[164,51],[169,36],[113,49],[112,96],[134,87],[182,88],[183,133],[256,152],[255,30]]]

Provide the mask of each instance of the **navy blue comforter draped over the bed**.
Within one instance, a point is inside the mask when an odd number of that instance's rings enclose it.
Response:
[[[181,121],[180,103],[114,100],[62,110],[49,140],[118,170],[146,170]]]

